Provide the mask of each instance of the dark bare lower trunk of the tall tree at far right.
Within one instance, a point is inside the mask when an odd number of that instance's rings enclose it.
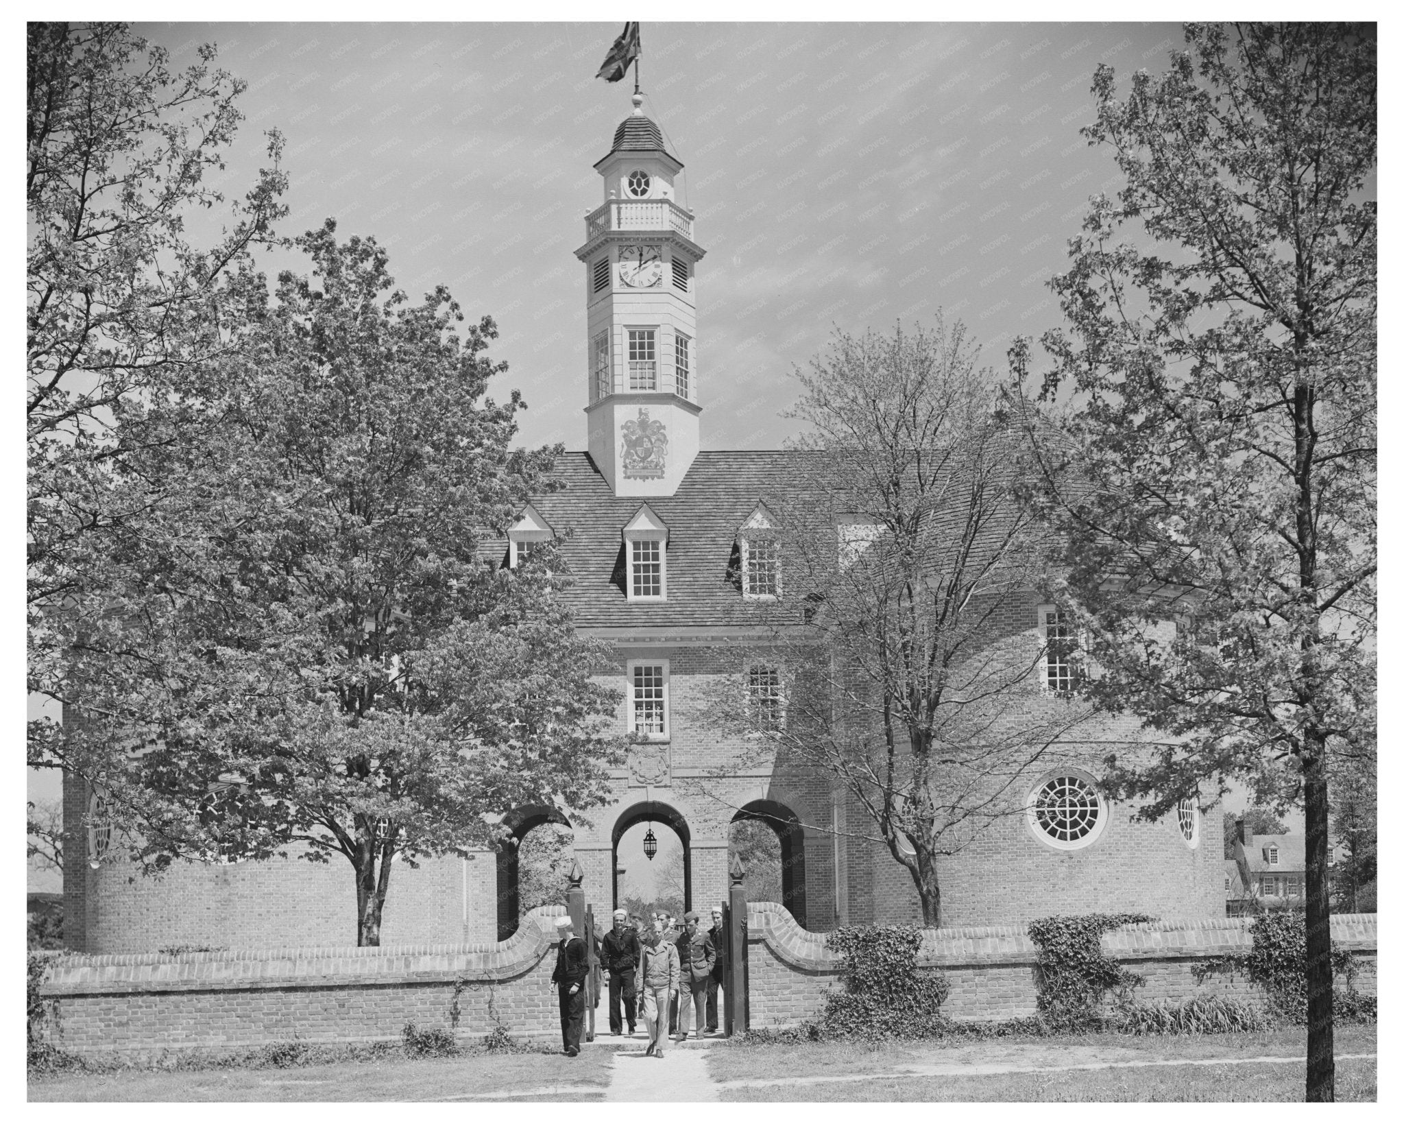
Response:
[[[1307,1100],[1335,1100],[1335,1012],[1331,978],[1331,901],[1327,885],[1324,739],[1307,733]]]

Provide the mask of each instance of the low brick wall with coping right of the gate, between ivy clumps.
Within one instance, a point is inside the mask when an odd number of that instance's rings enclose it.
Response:
[[[841,986],[838,962],[819,933],[800,929],[779,905],[750,903],[748,950],[751,1026],[792,1026],[814,1017],[823,995]],[[1358,953],[1356,986],[1376,993],[1377,929],[1373,913],[1331,919],[1331,937]],[[1206,917],[1126,926],[1102,937],[1108,955],[1146,976],[1144,1000],[1193,995],[1250,995],[1241,976],[1195,982],[1195,964],[1252,946],[1243,919]],[[1038,948],[1022,926],[927,930],[918,964],[939,968],[951,984],[943,1010],[955,1019],[1011,1019],[1033,1014]]]

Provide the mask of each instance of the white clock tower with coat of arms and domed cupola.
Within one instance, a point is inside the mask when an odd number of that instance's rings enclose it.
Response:
[[[616,496],[671,496],[699,444],[695,273],[703,250],[677,202],[682,162],[633,114],[595,164],[604,204],[585,215],[590,457]]]

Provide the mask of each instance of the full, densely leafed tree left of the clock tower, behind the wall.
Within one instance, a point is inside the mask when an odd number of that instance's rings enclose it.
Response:
[[[298,239],[312,275],[281,274],[249,357],[223,364],[225,423],[124,461],[199,488],[129,518],[63,614],[90,719],[70,760],[146,868],[343,856],[358,943],[378,944],[396,856],[602,797],[618,698],[555,552],[504,570],[480,551],[553,455],[508,448],[522,403],[486,398],[493,322],[461,337],[446,289],[411,306],[375,242],[334,229]],[[135,750],[114,760],[114,740]]]

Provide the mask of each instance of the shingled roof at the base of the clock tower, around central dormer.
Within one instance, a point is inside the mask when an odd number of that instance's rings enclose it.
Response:
[[[532,499],[550,523],[573,583],[567,599],[581,628],[746,627],[775,621],[741,597],[727,570],[737,531],[765,496],[783,490],[795,466],[783,451],[699,452],[673,496],[615,496],[588,452],[556,458],[557,492]],[[668,525],[667,601],[630,603],[623,586],[623,525],[647,503]],[[486,544],[484,544],[486,547]],[[489,549],[505,554],[505,542]],[[797,617],[797,610],[796,610]]]

